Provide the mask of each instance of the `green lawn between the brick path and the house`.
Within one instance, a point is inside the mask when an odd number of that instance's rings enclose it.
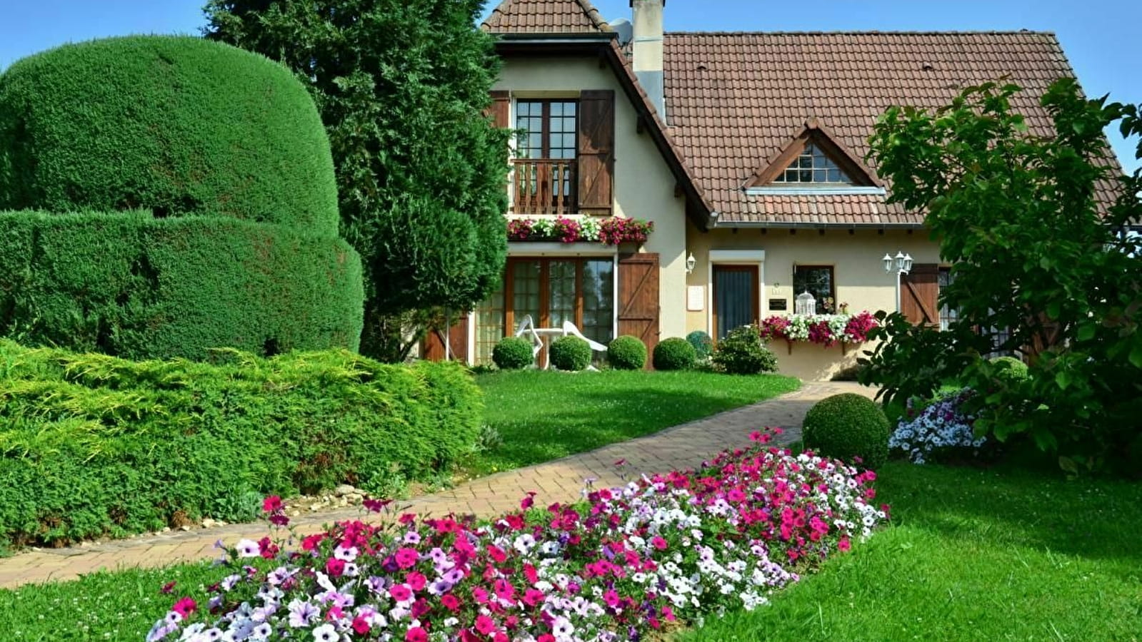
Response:
[[[790,392],[795,379],[707,372],[496,372],[476,382],[502,444],[474,474],[582,453]]]

